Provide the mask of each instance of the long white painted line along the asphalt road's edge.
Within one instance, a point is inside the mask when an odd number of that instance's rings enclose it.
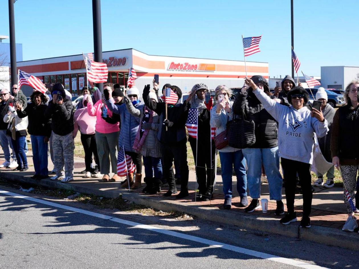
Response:
[[[74,211],[74,212],[78,212],[78,213],[81,213],[81,214],[85,214],[85,215],[89,215],[89,216],[93,216],[93,217],[97,217],[97,218],[102,218],[104,220],[118,222],[118,223],[121,223],[121,224],[124,224],[124,225],[129,225],[129,226],[132,226],[132,227],[135,227],[135,228],[140,228],[140,229],[150,230],[150,231],[153,231],[153,232],[163,233],[165,235],[174,236],[174,237],[178,237],[178,238],[181,238],[181,239],[186,239],[186,240],[202,243],[202,244],[209,245],[209,246],[212,246],[212,247],[220,247],[222,249],[231,250],[231,251],[234,251],[234,252],[237,252],[237,253],[242,253],[242,254],[254,256],[254,257],[257,257],[257,258],[261,258],[261,259],[276,261],[278,263],[293,265],[293,266],[297,266],[297,267],[300,267],[300,268],[306,268],[306,269],[328,269],[326,267],[322,267],[322,266],[319,266],[319,265],[304,263],[303,261],[297,261],[297,260],[282,258],[282,257],[279,257],[279,256],[275,256],[275,255],[255,251],[255,250],[245,249],[243,247],[237,247],[237,246],[233,246],[233,245],[223,244],[221,242],[217,242],[217,241],[213,241],[213,240],[204,239],[204,238],[197,237],[197,236],[187,235],[185,233],[169,231],[169,230],[165,230],[165,229],[162,229],[162,228],[158,228],[158,227],[154,227],[154,226],[150,226],[150,225],[145,225],[145,224],[141,224],[141,223],[137,223],[137,222],[133,222],[133,221],[126,221],[126,220],[123,220],[121,218],[111,217],[111,216],[104,215],[104,214],[99,214],[99,213],[94,213],[94,212],[87,211],[87,210],[84,210],[84,209],[79,209],[79,208],[76,208],[76,207],[64,206],[62,204],[57,204],[57,203],[53,203],[53,202],[48,202],[46,200],[41,200],[41,199],[37,199],[37,198],[33,198],[33,197],[28,197],[28,196],[21,195],[21,194],[18,194],[18,193],[7,192],[5,190],[0,190],[0,193],[13,196],[14,198],[21,198],[21,199],[29,200],[29,201],[36,202],[36,203],[46,204],[46,205],[52,206],[52,207],[62,208],[62,209],[66,209],[66,210],[69,210],[69,211]]]

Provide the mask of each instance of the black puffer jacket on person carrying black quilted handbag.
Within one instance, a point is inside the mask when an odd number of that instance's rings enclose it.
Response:
[[[234,100],[233,112],[235,115],[245,115],[245,119],[255,123],[256,143],[251,148],[271,148],[278,146],[278,123],[264,109],[262,103],[253,94],[251,89],[248,93],[239,92]]]

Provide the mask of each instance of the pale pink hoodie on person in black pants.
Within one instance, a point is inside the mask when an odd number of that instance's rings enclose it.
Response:
[[[83,105],[86,98],[87,98],[87,94],[85,94],[84,98],[82,99]],[[95,133],[95,124],[96,124],[96,118],[90,116],[87,113],[87,107],[84,105],[83,108],[76,110],[74,113],[73,137],[76,137],[79,129],[80,129],[80,133],[84,135],[93,135]]]

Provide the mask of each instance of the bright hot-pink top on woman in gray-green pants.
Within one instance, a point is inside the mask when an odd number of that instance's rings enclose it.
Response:
[[[107,123],[102,118],[102,100],[98,100],[94,105],[92,104],[92,100],[90,99],[90,102],[87,104],[87,112],[90,116],[96,116],[96,125],[95,125],[95,131],[99,133],[114,133],[120,131],[120,128],[118,127],[119,123],[110,124]],[[107,108],[107,107],[106,107]],[[111,110],[107,109],[107,114],[109,117],[112,117]]]

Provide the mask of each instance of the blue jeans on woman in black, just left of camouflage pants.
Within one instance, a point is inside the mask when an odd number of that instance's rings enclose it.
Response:
[[[35,174],[47,176],[47,148],[48,143],[44,142],[45,136],[31,135],[32,160],[34,162]]]

